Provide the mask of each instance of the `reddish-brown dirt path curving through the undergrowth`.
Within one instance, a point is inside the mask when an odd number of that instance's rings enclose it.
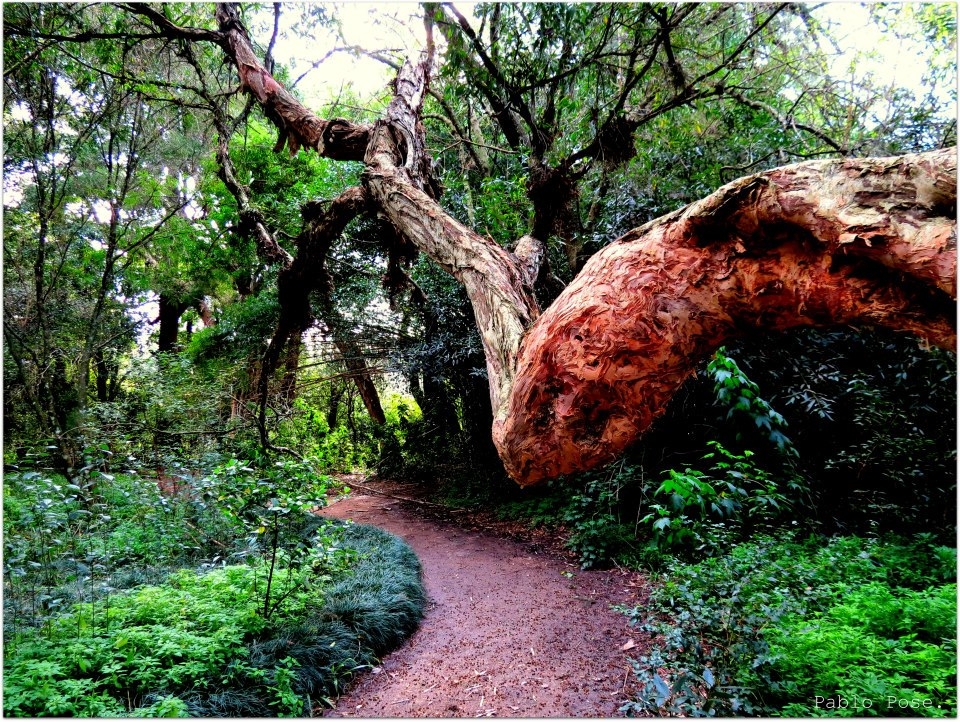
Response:
[[[360,675],[328,717],[614,717],[645,642],[614,604],[647,597],[631,571],[584,571],[555,532],[431,504],[418,487],[346,479],[324,515],[373,524],[420,557],[420,628]],[[405,500],[397,497],[404,497]]]

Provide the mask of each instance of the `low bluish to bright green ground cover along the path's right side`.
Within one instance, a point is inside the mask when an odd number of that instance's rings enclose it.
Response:
[[[653,641],[623,711],[810,716],[816,695],[838,694],[925,695],[955,709],[956,572],[937,549],[929,538],[768,537],[674,563],[647,608],[623,610]],[[905,556],[928,588],[896,586],[891,563]]]

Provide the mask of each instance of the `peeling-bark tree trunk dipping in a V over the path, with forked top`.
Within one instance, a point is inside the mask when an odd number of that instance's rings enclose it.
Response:
[[[761,329],[868,324],[955,345],[955,150],[801,163],[750,176],[597,253],[540,315],[542,239],[513,252],[431,197],[420,123],[430,65],[401,68],[374,126],[321,120],[256,59],[231,6],[223,45],[291,150],[362,159],[370,203],[465,287],[493,437],[534,484],[613,459],[699,361]],[[428,43],[428,47],[429,47]]]

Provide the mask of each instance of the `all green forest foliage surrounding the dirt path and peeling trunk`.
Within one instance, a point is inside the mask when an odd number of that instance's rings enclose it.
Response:
[[[424,117],[441,202],[501,244],[549,239],[544,306],[603,245],[733,178],[956,142],[951,5],[858,8],[857,52],[829,5],[479,4],[472,33],[443,12]],[[311,204],[362,167],[274,152],[222,52],[162,32],[212,27],[209,4],[3,13],[8,714],[300,713],[335,694],[420,603],[401,572],[407,601],[364,611],[394,621],[344,621],[390,630],[369,653],[276,652],[318,615],[362,616],[329,611],[338,585],[393,543],[310,520],[352,471],[548,525],[585,566],[661,574],[649,615],[627,610],[663,642],[628,712],[806,715],[823,711],[798,706],[811,695],[894,694],[955,714],[954,354],[868,328],[745,337],[623,459],[521,491],[490,440],[465,294],[364,218],[327,252],[313,323],[261,398],[281,300],[253,222],[294,252]],[[321,115],[382,112],[385,86],[324,93],[323,63],[280,57],[349,45],[343,8],[284,5],[279,36],[272,8],[243,13]],[[364,27],[415,44],[408,20]],[[398,59],[370,32],[350,52],[389,77]],[[890,48],[912,75],[882,70]],[[187,593],[196,624],[224,631],[170,626]],[[856,659],[838,651],[851,630]]]

